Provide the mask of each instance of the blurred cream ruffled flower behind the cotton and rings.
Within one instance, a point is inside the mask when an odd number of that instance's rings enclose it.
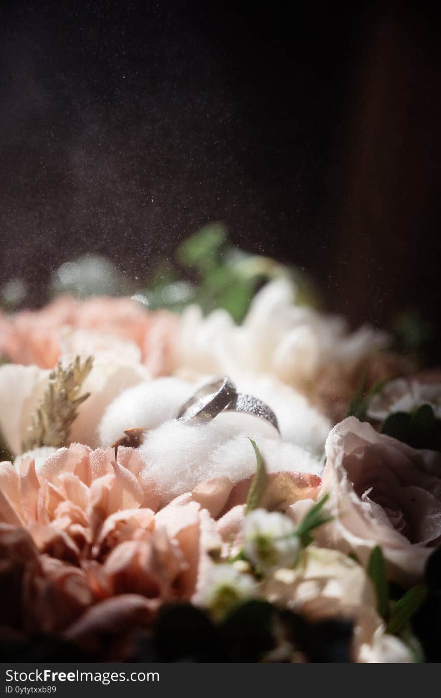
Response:
[[[173,346],[175,369],[203,373],[271,373],[283,382],[308,389],[329,365],[350,371],[386,336],[369,327],[347,333],[345,321],[297,306],[287,279],[268,283],[257,293],[243,325],[216,310],[207,318],[197,306],[184,312]]]

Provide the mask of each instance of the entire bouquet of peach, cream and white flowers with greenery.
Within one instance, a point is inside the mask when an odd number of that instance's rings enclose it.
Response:
[[[0,317],[3,661],[440,660],[441,373],[219,226],[177,265]]]

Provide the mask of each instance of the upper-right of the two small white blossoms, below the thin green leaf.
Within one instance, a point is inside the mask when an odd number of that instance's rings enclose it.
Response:
[[[243,549],[260,572],[267,572],[295,565],[300,542],[291,519],[279,512],[256,509],[245,519]]]

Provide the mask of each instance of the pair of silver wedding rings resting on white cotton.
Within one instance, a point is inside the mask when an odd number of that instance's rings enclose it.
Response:
[[[181,406],[177,419],[188,424],[206,424],[221,412],[241,412],[266,419],[280,433],[273,410],[257,397],[237,392],[236,386],[227,376],[197,390]]]

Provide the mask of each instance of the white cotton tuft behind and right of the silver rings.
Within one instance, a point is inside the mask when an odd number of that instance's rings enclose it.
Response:
[[[319,456],[322,454],[331,422],[311,406],[306,397],[274,376],[237,380],[237,387],[267,403],[276,414],[284,441],[296,443]]]

